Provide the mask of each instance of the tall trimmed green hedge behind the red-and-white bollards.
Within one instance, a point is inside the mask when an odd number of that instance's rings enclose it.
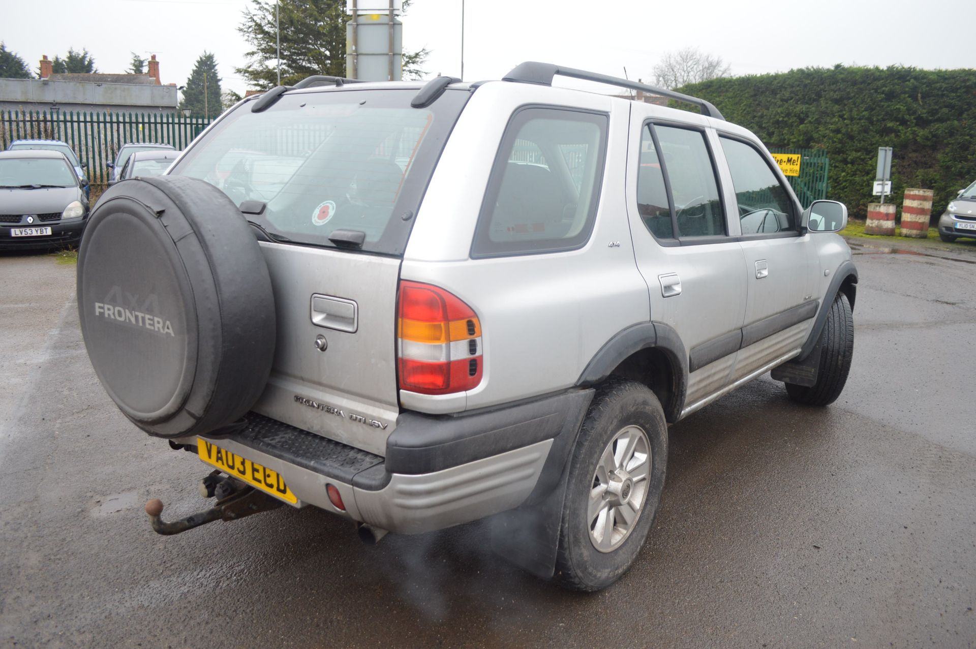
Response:
[[[935,190],[933,219],[976,181],[976,69],[808,67],[712,79],[680,89],[712,101],[767,146],[826,149],[829,197],[865,218],[878,146],[894,147],[894,201]],[[888,199],[886,199],[887,201]],[[899,214],[901,214],[899,212]]]

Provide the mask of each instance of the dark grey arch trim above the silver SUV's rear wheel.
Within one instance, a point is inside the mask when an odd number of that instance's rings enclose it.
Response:
[[[680,417],[688,391],[688,353],[674,328],[663,322],[639,322],[615,334],[593,354],[576,385],[597,385],[605,381],[631,355],[651,347],[664,352],[671,365],[671,399],[661,405],[665,419],[673,424]]]

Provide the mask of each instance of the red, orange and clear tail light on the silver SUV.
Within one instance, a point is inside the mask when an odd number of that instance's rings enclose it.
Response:
[[[430,284],[400,282],[400,389],[463,392],[481,383],[481,323],[468,304]]]

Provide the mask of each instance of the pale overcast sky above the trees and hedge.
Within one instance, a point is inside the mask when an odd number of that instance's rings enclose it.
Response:
[[[63,56],[69,46],[88,48],[102,72],[125,71],[130,52],[151,53],[163,83],[183,85],[206,50],[217,57],[224,88],[246,89],[234,67],[248,49],[236,30],[248,0],[3,4],[0,40],[32,70],[41,55]],[[834,63],[974,67],[971,39],[951,47],[942,38],[957,20],[970,20],[971,9],[972,0],[929,0],[923,12],[908,0],[467,0],[465,78],[497,79],[521,61],[550,61],[615,76],[626,67],[631,79],[650,81],[664,53],[689,45],[718,55],[733,74]],[[414,0],[403,23],[405,48],[431,51],[431,76],[460,74],[461,0]]]

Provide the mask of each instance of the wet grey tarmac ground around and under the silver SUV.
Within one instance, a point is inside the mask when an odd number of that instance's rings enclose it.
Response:
[[[477,523],[366,548],[283,507],[153,534],[143,503],[201,507],[206,467],[102,391],[73,267],[0,258],[0,646],[976,646],[976,266],[856,263],[840,399],[766,377],[673,426],[648,544],[580,595]]]

